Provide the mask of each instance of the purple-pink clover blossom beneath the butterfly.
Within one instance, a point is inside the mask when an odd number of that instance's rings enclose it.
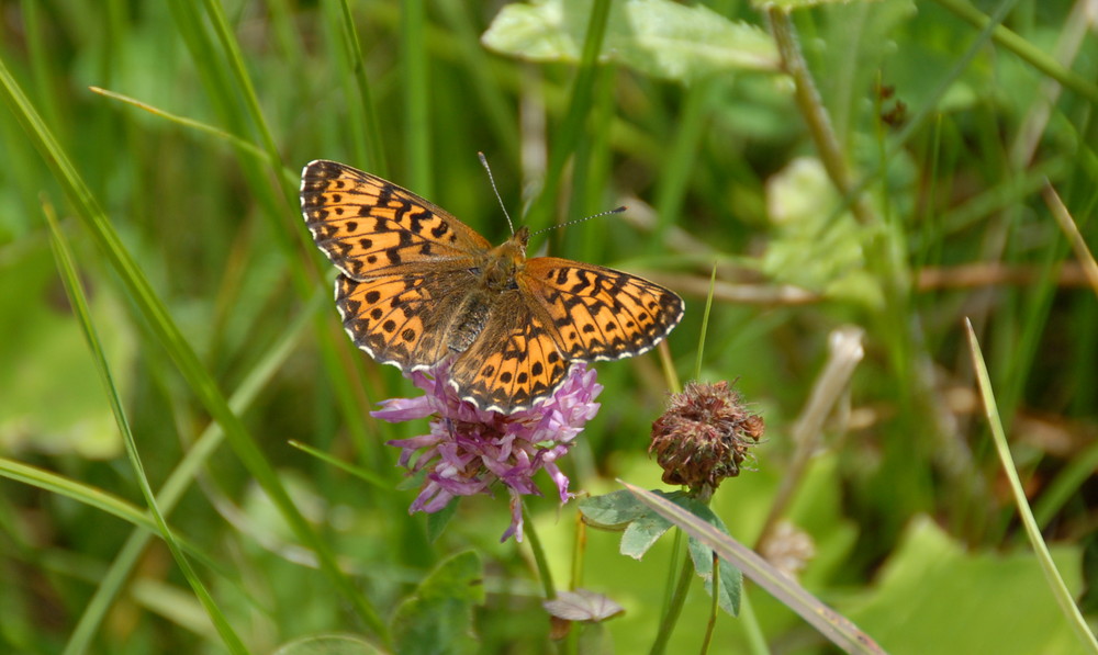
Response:
[[[448,384],[449,362],[406,375],[425,393],[415,398],[391,398],[370,415],[389,422],[433,417],[429,431],[412,439],[389,441],[402,449],[400,465],[410,473],[426,471],[410,512],[435,512],[456,496],[491,494],[502,483],[511,495],[511,527],[500,541],[523,541],[523,502],[540,495],[534,474],[545,470],[565,502],[572,497],[569,479],[557,461],[598,413],[594,399],[603,391],[595,371],[573,364],[552,396],[529,408],[503,415],[484,410],[458,397]]]

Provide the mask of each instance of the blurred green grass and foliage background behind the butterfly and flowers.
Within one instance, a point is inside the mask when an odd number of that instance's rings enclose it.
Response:
[[[343,334],[334,270],[298,207],[301,167],[334,159],[498,242],[508,229],[482,150],[531,228],[628,206],[541,235],[531,252],[684,296],[669,339],[679,379],[735,380],[766,421],[754,470],[714,498],[735,537],[752,544],[786,485],[777,513],[814,553],[802,581],[889,652],[1078,652],[1020,530],[962,320],[1093,624],[1098,289],[1050,207],[1062,199],[1098,247],[1094,3],[796,9],[784,33],[816,98],[797,97],[751,3],[615,2],[597,65],[594,50],[583,59],[592,8],[0,1],[0,650],[234,647],[164,542],[134,527],[146,502],[112,394],[214,614],[247,651],[322,633],[380,644],[391,631],[401,650],[433,652],[439,642],[408,629],[425,616],[410,595],[470,549],[486,598],[453,602],[458,617],[475,606],[480,645],[449,645],[568,647],[549,641],[528,544],[497,541],[505,494],[463,500],[436,541],[407,515],[416,490],[397,488],[384,441],[425,421],[368,411],[417,392]],[[53,214],[112,393],[65,294]],[[821,376],[840,329],[864,349],[849,384]],[[670,391],[658,355],[597,368],[603,407],[564,463],[572,489],[661,486],[646,455]],[[792,466],[814,389],[837,399]],[[530,510],[563,586],[574,506],[558,509],[541,483]],[[627,610],[606,634],[589,629],[604,646],[650,646],[677,571],[665,541],[636,562],[617,535],[587,533],[582,585]],[[830,652],[748,595],[772,652]],[[697,650],[708,607],[695,584],[674,651]],[[758,652],[749,632],[721,614],[712,652]]]

